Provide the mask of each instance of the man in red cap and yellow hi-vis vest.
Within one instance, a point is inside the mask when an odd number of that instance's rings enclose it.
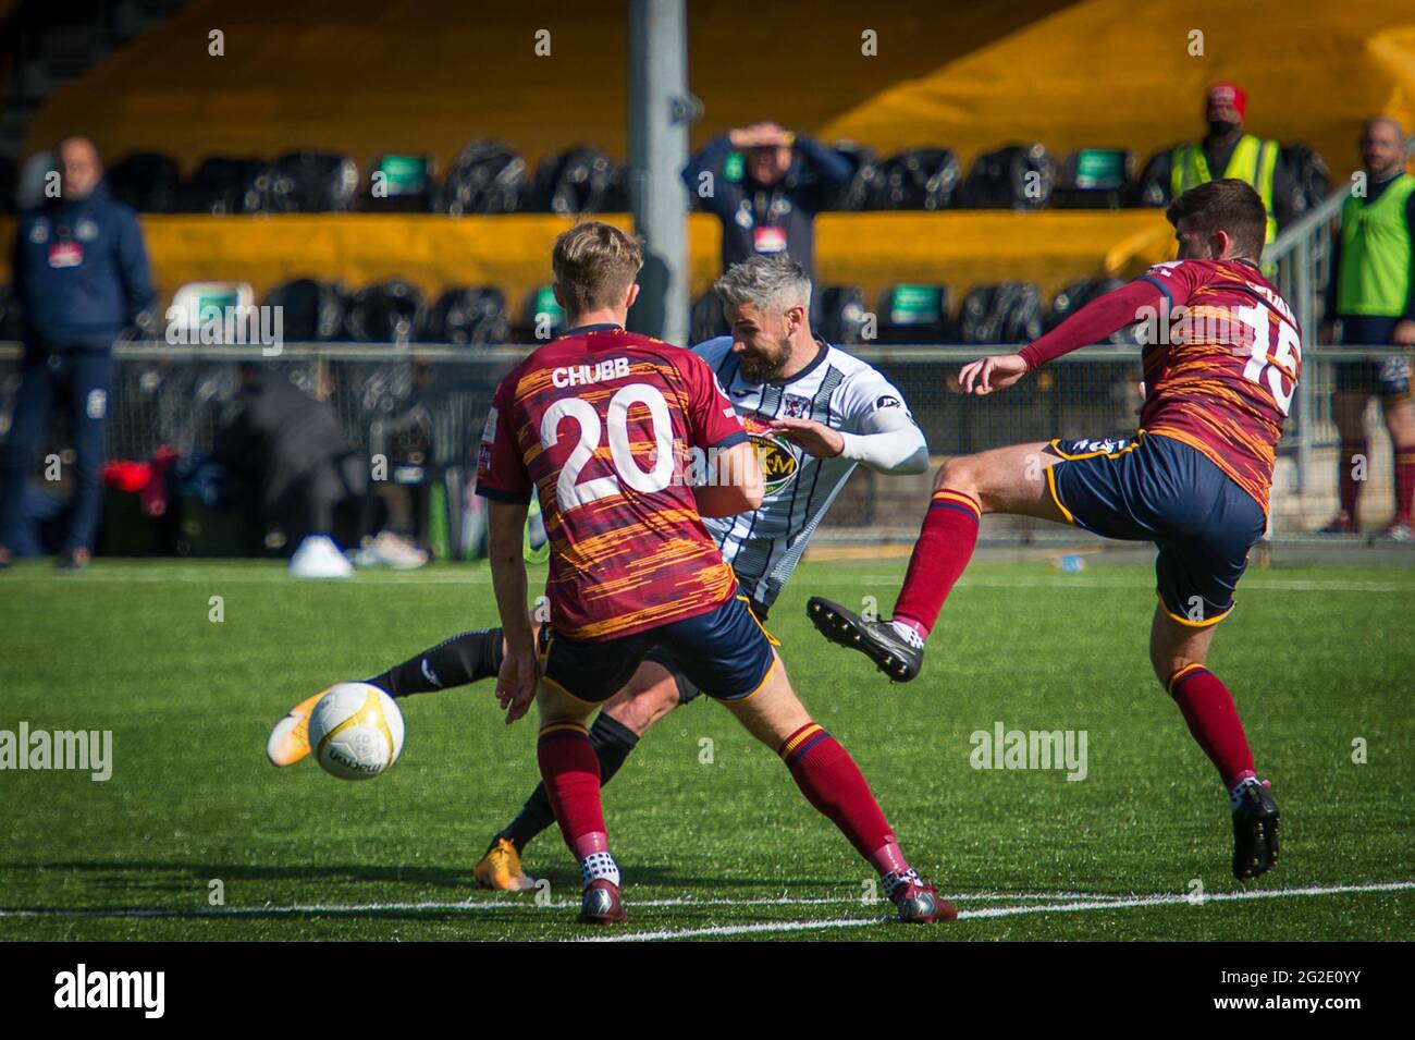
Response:
[[[1235,83],[1214,83],[1204,98],[1208,133],[1200,141],[1156,154],[1140,177],[1145,202],[1167,205],[1186,191],[1218,177],[1251,184],[1268,209],[1268,242],[1293,211],[1293,183],[1278,141],[1242,132],[1248,95]]]

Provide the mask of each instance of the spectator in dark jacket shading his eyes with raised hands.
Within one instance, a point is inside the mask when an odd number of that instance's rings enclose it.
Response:
[[[741,153],[740,173],[727,164],[733,151]],[[750,256],[790,252],[815,280],[815,215],[853,173],[833,149],[764,122],[715,137],[683,180],[722,221],[723,270]]]

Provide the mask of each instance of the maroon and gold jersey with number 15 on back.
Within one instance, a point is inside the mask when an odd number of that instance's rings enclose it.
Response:
[[[1282,424],[1302,376],[1300,330],[1258,267],[1170,260],[1142,282],[1169,300],[1145,347],[1140,429],[1203,451],[1268,511]]]

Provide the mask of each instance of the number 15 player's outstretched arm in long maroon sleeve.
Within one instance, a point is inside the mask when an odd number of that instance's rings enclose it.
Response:
[[[1136,321],[1143,321],[1146,316],[1157,316],[1160,301],[1166,296],[1172,304],[1183,303],[1183,300],[1176,300],[1174,293],[1162,287],[1150,275],[1143,275],[1135,282],[1092,300],[1017,354],[1000,354],[969,361],[958,372],[958,385],[964,393],[982,395],[1005,391],[1027,372],[1049,361],[1094,342],[1102,342],[1114,333],[1129,328]]]

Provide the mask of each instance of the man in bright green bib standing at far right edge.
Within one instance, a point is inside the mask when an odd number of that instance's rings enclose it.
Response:
[[[1341,204],[1341,232],[1332,252],[1326,313],[1340,324],[1340,342],[1415,345],[1415,177],[1405,173],[1405,129],[1378,116],[1361,132],[1365,191]],[[1332,342],[1327,327],[1323,342]],[[1385,533],[1411,541],[1415,495],[1415,415],[1411,409],[1409,358],[1339,361],[1332,417],[1341,437],[1337,458],[1340,511],[1322,531],[1360,531],[1357,505],[1365,477],[1365,406],[1381,399],[1385,429],[1395,450],[1395,518]]]

